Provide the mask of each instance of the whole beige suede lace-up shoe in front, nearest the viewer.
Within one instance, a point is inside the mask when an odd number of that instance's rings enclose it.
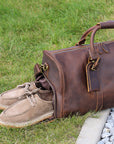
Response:
[[[24,94],[24,99],[4,110],[0,114],[0,125],[21,128],[51,118],[54,113],[52,101],[42,99],[38,92],[39,89]]]

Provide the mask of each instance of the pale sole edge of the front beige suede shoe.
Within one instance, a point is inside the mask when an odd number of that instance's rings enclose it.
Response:
[[[30,126],[30,125],[34,125],[38,122],[41,122],[45,119],[48,119],[48,118],[51,118],[53,116],[53,113],[54,111],[50,111],[40,117],[37,117],[31,121],[28,121],[28,122],[22,122],[22,123],[6,123],[6,122],[3,122],[0,120],[0,125],[2,126],[6,126],[6,127],[12,127],[12,128],[23,128],[23,127],[27,127],[27,126]]]

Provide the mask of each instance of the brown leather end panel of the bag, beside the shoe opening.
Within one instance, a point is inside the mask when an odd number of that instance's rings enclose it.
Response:
[[[44,73],[48,81],[51,83],[54,91],[54,111],[55,117],[63,116],[63,89],[64,77],[62,68],[58,61],[49,51],[44,51],[42,63],[47,63],[49,69]]]

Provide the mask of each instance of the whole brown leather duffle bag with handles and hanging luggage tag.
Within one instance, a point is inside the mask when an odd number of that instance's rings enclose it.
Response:
[[[51,86],[54,117],[114,106],[114,41],[94,44],[97,30],[113,28],[114,21],[98,23],[76,46],[43,52],[42,64],[34,67],[35,77],[43,74]],[[90,32],[90,45],[83,45]]]

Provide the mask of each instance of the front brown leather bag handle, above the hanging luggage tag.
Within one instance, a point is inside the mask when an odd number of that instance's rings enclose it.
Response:
[[[94,48],[95,33],[99,29],[113,29],[113,28],[114,28],[114,21],[102,22],[102,23],[98,23],[96,25],[96,27],[94,28],[94,30],[91,34],[91,38],[90,38],[90,57],[91,57],[91,59],[98,58],[98,53],[95,51],[95,48]]]

